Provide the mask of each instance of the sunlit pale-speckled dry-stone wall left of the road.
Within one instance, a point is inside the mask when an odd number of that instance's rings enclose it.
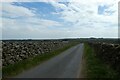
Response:
[[[67,41],[2,41],[3,67],[37,55],[47,54],[69,44]]]

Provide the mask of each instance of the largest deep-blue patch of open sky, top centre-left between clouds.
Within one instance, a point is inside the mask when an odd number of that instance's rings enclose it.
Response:
[[[56,9],[50,4],[45,2],[21,2],[21,3],[13,3],[16,6],[23,6],[31,10],[35,10],[35,14],[38,18],[49,19],[49,20],[56,20],[62,21],[60,19],[60,14],[53,14],[56,13]]]

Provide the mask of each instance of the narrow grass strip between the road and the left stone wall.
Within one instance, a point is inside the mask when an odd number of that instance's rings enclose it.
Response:
[[[61,49],[55,50],[51,53],[37,55],[35,57],[28,58],[28,59],[20,61],[18,63],[8,65],[2,69],[2,76],[3,76],[3,78],[15,76],[15,75],[21,73],[22,71],[25,71],[27,69],[30,69],[30,68],[42,63],[43,61],[49,60],[50,58],[60,54],[61,52],[65,51],[65,50],[69,49],[70,47],[75,46],[77,44],[78,43],[71,43],[71,44],[69,44]]]

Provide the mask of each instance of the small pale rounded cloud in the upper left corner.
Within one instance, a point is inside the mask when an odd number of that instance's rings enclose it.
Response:
[[[2,4],[3,16],[16,18],[16,17],[31,17],[35,15],[33,13],[33,10],[29,10],[25,7],[15,6],[11,4],[12,3]]]

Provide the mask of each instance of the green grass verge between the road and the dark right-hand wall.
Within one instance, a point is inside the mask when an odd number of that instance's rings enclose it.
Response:
[[[104,64],[88,44],[85,44],[84,57],[86,61],[86,75],[88,78],[117,78],[117,73]]]

